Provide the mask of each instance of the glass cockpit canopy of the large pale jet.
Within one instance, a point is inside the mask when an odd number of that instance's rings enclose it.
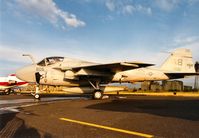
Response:
[[[37,63],[39,66],[49,66],[58,62],[62,62],[64,57],[48,57]]]

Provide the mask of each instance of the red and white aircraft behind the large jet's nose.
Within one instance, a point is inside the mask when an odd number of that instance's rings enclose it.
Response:
[[[27,85],[27,82],[18,79],[15,74],[0,77],[0,91],[5,94],[10,94],[15,88],[25,87]]]

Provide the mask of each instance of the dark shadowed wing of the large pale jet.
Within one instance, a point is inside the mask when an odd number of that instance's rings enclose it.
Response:
[[[109,64],[94,64],[94,65],[86,65],[86,66],[78,66],[72,67],[72,70],[96,70],[101,72],[117,72],[117,71],[125,71],[130,69],[142,68],[153,66],[154,64],[149,63],[141,63],[141,62],[118,62],[118,63],[109,63]]]

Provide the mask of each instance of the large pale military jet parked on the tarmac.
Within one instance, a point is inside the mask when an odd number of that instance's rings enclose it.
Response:
[[[108,83],[159,81],[196,75],[192,53],[184,48],[172,52],[160,68],[141,62],[98,64],[66,57],[47,57],[36,64],[30,57],[33,64],[16,71],[19,79],[38,85],[66,86],[69,91],[78,88],[83,93],[87,93],[85,88],[89,87],[94,99],[102,98],[106,90],[103,85]],[[40,97],[39,87],[34,96]]]

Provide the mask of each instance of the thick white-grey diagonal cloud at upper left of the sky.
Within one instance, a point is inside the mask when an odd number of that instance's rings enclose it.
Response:
[[[76,15],[61,10],[53,0],[16,0],[27,12],[45,18],[55,26],[62,21],[66,26],[81,27],[86,23],[77,19]]]

